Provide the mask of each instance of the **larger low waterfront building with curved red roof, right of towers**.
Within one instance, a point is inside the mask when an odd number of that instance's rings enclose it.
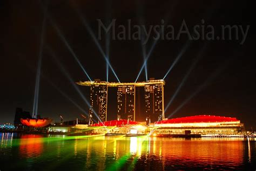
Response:
[[[198,115],[181,118],[173,118],[155,122],[157,134],[237,134],[244,130],[244,124],[237,118]]]

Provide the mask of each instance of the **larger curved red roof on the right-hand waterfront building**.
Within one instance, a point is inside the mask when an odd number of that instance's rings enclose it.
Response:
[[[181,118],[173,118],[168,120],[161,120],[155,124],[179,124],[179,123],[211,123],[211,122],[237,122],[237,118],[214,116],[214,115],[197,115]]]

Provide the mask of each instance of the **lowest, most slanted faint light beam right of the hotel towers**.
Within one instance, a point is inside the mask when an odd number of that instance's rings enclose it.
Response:
[[[219,68],[217,68],[206,80],[203,84],[201,84],[196,91],[194,91],[190,96],[188,96],[183,103],[181,103],[176,110],[174,110],[167,118],[172,117],[174,114],[176,114],[183,106],[189,102],[194,96],[196,96],[202,89],[207,87],[214,79],[217,77],[223,70],[226,68],[228,64],[228,61],[225,62],[225,64]]]

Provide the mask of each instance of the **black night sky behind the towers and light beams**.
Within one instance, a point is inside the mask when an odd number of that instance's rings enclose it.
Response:
[[[41,41],[43,21],[42,5],[46,1],[1,1],[1,119],[0,124],[13,122],[15,108],[20,107],[32,112],[33,94],[35,89],[36,68]],[[83,13],[92,31],[98,35],[97,19],[116,19],[116,24],[127,26],[127,19],[132,25],[144,20],[146,26],[159,25],[161,19],[167,25],[173,25],[178,31],[183,19],[188,28],[201,24],[213,25],[219,32],[220,25],[250,25],[247,38],[243,45],[240,40],[192,40],[187,51],[177,65],[166,77],[165,104],[170,101],[174,92],[183,80],[191,63],[198,52],[207,43],[206,50],[192,70],[188,79],[181,87],[166,116],[175,111],[185,99],[194,92],[200,91],[188,101],[183,108],[172,117],[192,115],[218,115],[237,117],[246,127],[255,127],[255,12],[253,5],[237,1],[49,1],[49,16],[56,22],[66,40],[92,79],[106,80],[106,63],[102,54],[82,24],[77,11]],[[98,40],[105,51],[105,37]],[[187,41],[186,35],[180,40],[159,40],[147,63],[149,77],[163,79],[176,56],[181,52]],[[147,51],[152,45],[152,38],[147,43]],[[46,22],[45,45],[55,51],[57,58],[63,63],[73,81],[87,81],[86,75],[72,57],[68,48],[58,37],[49,19]],[[121,82],[136,80],[143,64],[142,47],[139,40],[111,40],[110,62]],[[59,121],[62,114],[64,120],[79,117],[81,111],[56,88],[47,81],[54,83],[59,90],[65,92],[77,104],[88,111],[87,105],[72,87],[65,74],[44,48],[38,113],[43,117],[51,117]],[[217,74],[215,74],[217,73]],[[211,77],[211,75],[214,75]],[[210,77],[210,79],[209,79]],[[205,86],[204,82],[209,79]],[[145,73],[139,81],[145,80]],[[109,81],[116,81],[110,71]],[[89,99],[89,87],[79,87]],[[143,101],[143,89],[138,90],[137,99]],[[138,100],[137,100],[138,102]],[[137,115],[142,116],[143,102],[137,103]],[[116,118],[116,89],[109,91],[110,119]]]

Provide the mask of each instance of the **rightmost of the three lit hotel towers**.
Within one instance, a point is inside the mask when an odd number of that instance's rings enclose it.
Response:
[[[150,80],[154,81],[154,80]],[[145,85],[146,120],[156,122],[164,119],[164,85]]]

